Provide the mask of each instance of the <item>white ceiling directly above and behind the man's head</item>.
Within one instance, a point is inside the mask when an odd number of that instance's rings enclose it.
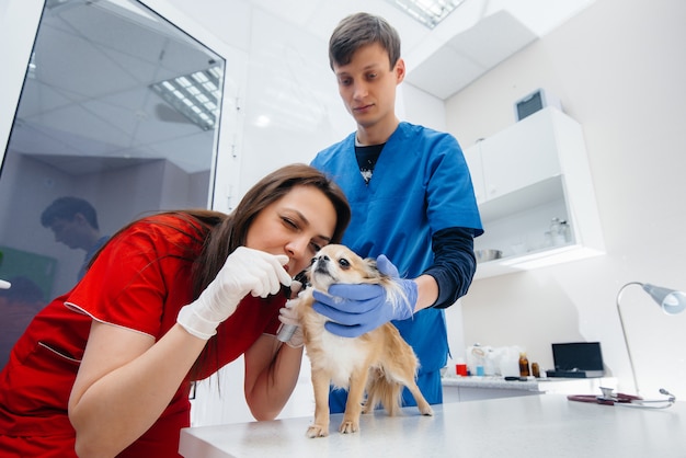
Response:
[[[386,18],[402,38],[407,82],[445,100],[489,69],[545,36],[595,0],[466,0],[434,30],[388,0],[249,0],[329,41],[345,15],[367,11]]]

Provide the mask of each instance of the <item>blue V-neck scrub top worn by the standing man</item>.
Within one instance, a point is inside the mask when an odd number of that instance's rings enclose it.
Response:
[[[353,209],[342,243],[363,257],[386,254],[403,277],[415,278],[433,264],[436,231],[461,227],[483,233],[467,162],[449,134],[400,123],[368,184],[355,158],[355,133],[311,164],[343,188]],[[420,358],[420,376],[445,366],[444,310],[424,309],[393,324]]]

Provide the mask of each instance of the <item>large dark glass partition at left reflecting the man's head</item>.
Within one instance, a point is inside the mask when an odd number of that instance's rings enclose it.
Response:
[[[225,66],[139,2],[45,2],[0,169],[0,367],[99,242],[209,206]]]

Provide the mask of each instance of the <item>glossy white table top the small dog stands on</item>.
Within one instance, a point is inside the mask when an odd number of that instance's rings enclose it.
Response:
[[[361,431],[307,438],[311,417],[182,430],[186,458],[219,457],[686,457],[686,402],[637,409],[572,402],[563,394],[415,408],[363,415]]]

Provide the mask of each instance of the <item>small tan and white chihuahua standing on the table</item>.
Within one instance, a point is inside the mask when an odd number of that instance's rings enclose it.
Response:
[[[324,293],[334,283],[366,283],[387,288],[391,300],[402,295],[391,278],[378,271],[375,260],[363,260],[339,244],[327,245],[317,253],[308,270],[308,279],[315,289]],[[358,337],[341,337],[324,329],[328,318],[317,313],[312,302],[312,288],[307,288],[293,304],[302,324],[305,350],[312,369],[315,423],[307,430],[308,437],[329,435],[330,385],[348,389],[339,427],[344,434],[357,432],[359,415],[373,411],[379,403],[389,415],[398,413],[403,387],[408,387],[423,415],[433,415],[416,386],[418,358],[396,327],[386,323]],[[393,304],[389,302],[388,307]]]

